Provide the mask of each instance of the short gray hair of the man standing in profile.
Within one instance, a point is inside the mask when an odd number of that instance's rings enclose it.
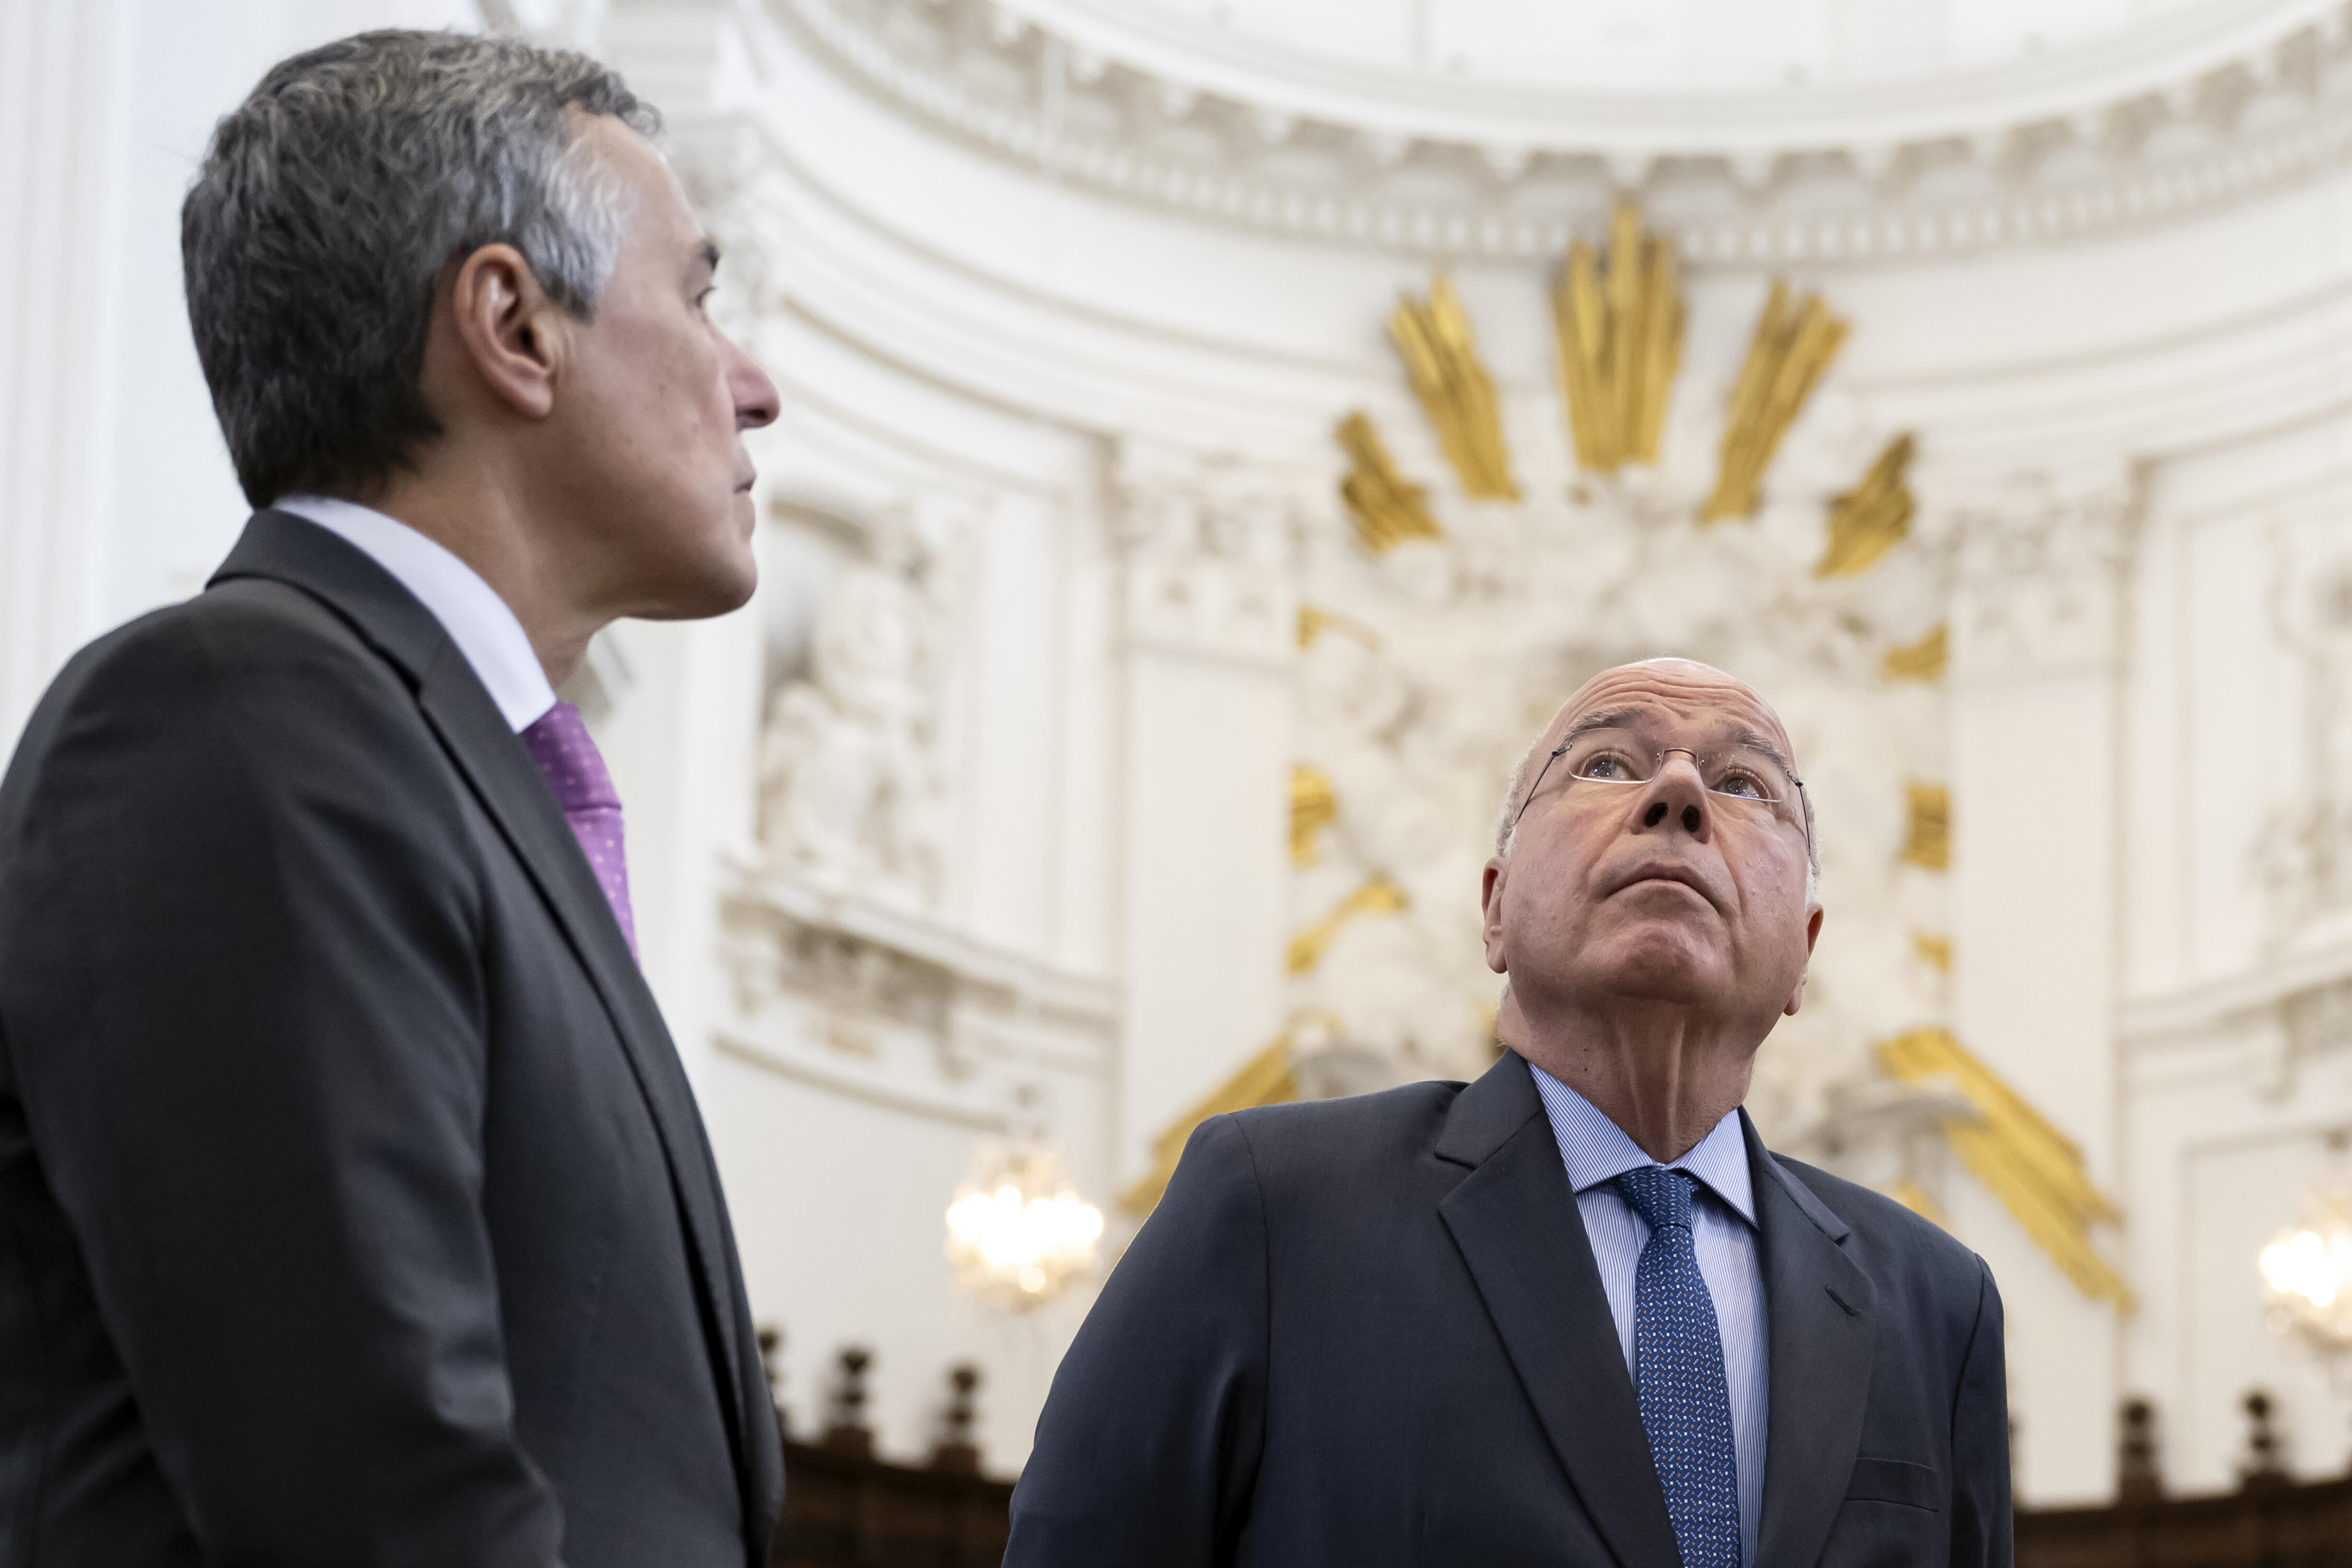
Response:
[[[254,505],[365,494],[440,435],[426,331],[442,273],[522,252],[590,320],[621,188],[567,110],[661,115],[586,54],[468,33],[360,33],[280,61],[212,132],[179,214],[188,324]]]

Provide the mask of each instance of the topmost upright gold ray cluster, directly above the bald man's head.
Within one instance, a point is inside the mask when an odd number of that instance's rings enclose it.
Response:
[[[1609,277],[1578,240],[1552,282],[1559,386],[1576,463],[1616,473],[1658,461],[1658,428],[1682,367],[1682,294],[1675,247],[1644,237],[1632,202],[1609,230]]]

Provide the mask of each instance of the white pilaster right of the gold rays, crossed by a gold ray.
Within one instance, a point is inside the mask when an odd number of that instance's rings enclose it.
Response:
[[[1959,538],[1952,616],[1952,910],[1959,1039],[2117,1171],[2119,480],[2004,487]],[[2051,933],[2065,940],[2051,940]],[[2114,1307],[2086,1300],[1980,1187],[1955,1211],[2009,1307],[2018,1490],[2114,1490]]]

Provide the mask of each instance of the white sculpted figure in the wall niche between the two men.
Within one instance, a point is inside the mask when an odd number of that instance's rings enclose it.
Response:
[[[760,736],[760,835],[779,865],[880,900],[938,905],[938,729],[969,536],[957,508],[891,508],[818,604],[809,668],[776,686]]]

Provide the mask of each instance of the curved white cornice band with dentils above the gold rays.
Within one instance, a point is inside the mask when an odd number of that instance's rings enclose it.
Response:
[[[1345,106],[1315,120],[1101,66],[1018,16],[995,26],[983,0],[764,2],[901,110],[1051,179],[1418,254],[1552,259],[1602,235],[1613,190],[1642,190],[1691,261],[1903,261],[2173,219],[2352,162],[2345,40],[2314,26],[2314,5],[2274,7],[2279,31],[2258,42],[2232,33],[2218,54],[2183,54],[2166,68],[2185,75],[2161,85],[2107,73],[2053,108],[2063,94],[2037,82],[1997,125],[1759,141],[1686,113],[1696,139],[1602,141],[1416,132]]]

